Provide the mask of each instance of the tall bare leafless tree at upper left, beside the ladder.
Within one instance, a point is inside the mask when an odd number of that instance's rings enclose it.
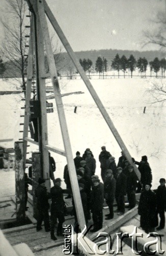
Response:
[[[21,85],[25,90],[25,74],[24,67],[27,60],[24,55],[28,52],[26,34],[30,34],[25,28],[25,14],[27,12],[27,4],[24,0],[6,0],[6,10],[1,23],[4,27],[5,39],[1,49],[2,55],[6,60],[8,76],[14,77],[16,84]],[[8,22],[6,21],[8,15]],[[30,19],[27,18],[26,25]],[[27,50],[26,50],[27,49]],[[18,77],[21,77],[18,78]]]

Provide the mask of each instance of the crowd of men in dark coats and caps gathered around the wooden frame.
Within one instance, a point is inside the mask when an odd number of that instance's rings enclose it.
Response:
[[[102,151],[99,155],[99,161],[100,161],[100,167],[101,167],[101,178],[103,180],[103,183],[100,182],[99,177],[95,175],[96,160],[94,159],[94,156],[90,148],[86,149],[82,157],[80,156],[80,153],[77,151],[76,157],[74,158],[74,164],[76,168],[76,175],[77,175],[78,186],[80,190],[80,197],[82,201],[82,207],[84,210],[86,224],[88,224],[88,220],[91,219],[91,212],[92,212],[92,219],[93,219],[94,226],[91,232],[96,232],[102,228],[104,198],[109,208],[109,213],[105,216],[106,220],[113,219],[115,211],[118,212],[119,216],[124,214],[125,212],[124,196],[126,195],[126,193],[127,193],[128,202],[129,202],[128,208],[129,209],[133,208],[136,204],[135,192],[137,188],[137,191],[143,189],[143,192],[140,198],[140,204],[139,204],[139,214],[141,215],[141,225],[143,229],[145,229],[146,231],[149,230],[147,226],[145,227],[145,225],[147,224],[145,223],[146,222],[145,212],[147,210],[145,206],[146,205],[145,202],[146,200],[148,201],[148,203],[150,201],[153,202],[154,193],[150,189],[147,189],[148,186],[149,187],[151,186],[151,182],[152,182],[151,168],[149,166],[147,156],[143,156],[141,162],[137,162],[132,158],[133,162],[139,165],[139,170],[141,173],[141,182],[139,183],[137,176],[134,172],[133,166],[128,163],[123,152],[122,152],[122,156],[119,158],[118,164],[116,164],[115,157],[113,157],[108,151],[106,151],[105,146],[102,146],[101,150]],[[67,185],[67,189],[69,191],[69,195],[66,198],[71,198],[72,188],[71,188],[69,171],[68,171],[67,165],[65,166],[65,169],[64,169],[64,180]],[[162,179],[162,181],[163,180],[164,179]],[[48,201],[48,195],[46,193],[46,189],[43,188],[44,186],[41,183],[42,181],[44,182],[44,180],[40,178],[39,187],[36,190],[36,197],[39,202],[40,202],[40,199],[42,198],[45,198],[45,200]],[[41,193],[41,190],[43,194]],[[146,191],[149,191],[149,190],[150,190],[150,193],[149,194],[146,193]],[[166,193],[165,185],[162,188],[158,188],[156,191],[156,196],[160,198],[160,202],[162,201],[162,204],[164,204],[163,207],[158,206],[158,213],[161,218],[160,225],[158,227],[159,229],[163,228],[165,224],[164,210],[166,207],[166,203],[163,203],[163,198],[161,197],[161,194],[164,194],[164,193]],[[150,199],[148,199],[148,195]],[[57,228],[57,236],[62,235],[62,224],[65,221],[65,218],[64,218],[65,202],[63,199],[63,189],[61,188],[60,178],[57,178],[55,180],[55,184],[50,190],[49,197],[51,198],[50,226],[48,225],[49,223],[48,222],[48,218],[49,218],[48,204],[45,201],[45,203],[42,203],[41,205],[38,206],[39,218],[38,218],[38,224],[37,224],[37,231],[41,229],[41,223],[44,220],[45,231],[50,230],[51,239],[57,240],[57,238],[54,236],[54,228],[57,223],[57,219],[59,222],[58,228]],[[115,199],[117,202],[117,209],[114,211],[113,203]],[[77,220],[75,204],[73,199],[72,199],[72,202],[73,202],[73,214],[75,217],[74,230],[78,231],[79,223]],[[157,203],[157,201],[155,202]],[[158,202],[159,202],[159,199],[158,199]],[[45,206],[43,206],[43,204]],[[155,208],[155,213],[156,213],[156,208]],[[149,214],[148,216],[151,216],[151,215]],[[150,221],[151,221],[151,218],[150,218]]]

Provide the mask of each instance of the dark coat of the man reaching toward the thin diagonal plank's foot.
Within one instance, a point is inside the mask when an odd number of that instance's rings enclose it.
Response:
[[[152,172],[148,162],[137,162],[135,164],[139,165],[138,169],[141,173],[141,183],[145,186],[152,182]]]

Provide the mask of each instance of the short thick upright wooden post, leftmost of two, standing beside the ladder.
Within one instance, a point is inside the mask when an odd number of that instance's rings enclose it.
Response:
[[[14,143],[15,150],[15,179],[16,179],[16,219],[25,220],[25,177],[23,168],[23,142]]]

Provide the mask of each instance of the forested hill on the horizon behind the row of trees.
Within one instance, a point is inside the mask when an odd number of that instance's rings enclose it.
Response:
[[[91,50],[91,51],[81,51],[81,52],[75,52],[78,59],[91,59],[93,62],[93,67],[95,67],[96,59],[98,56],[104,57],[108,61],[108,67],[112,64],[112,60],[115,58],[116,54],[119,54],[120,57],[122,55],[125,55],[128,59],[129,56],[132,54],[135,59],[139,59],[140,57],[145,57],[148,62],[154,60],[155,57],[158,57],[158,59],[162,59],[166,57],[166,52],[163,51],[130,51],[130,50],[112,50],[112,49],[106,49],[106,50]],[[69,61],[69,57],[67,53],[61,53],[61,60],[63,60],[64,66],[71,66],[71,62]],[[65,65],[66,62],[66,65]],[[61,63],[62,65],[62,63]],[[66,69],[66,68],[64,68]],[[63,69],[63,70],[64,70]]]

